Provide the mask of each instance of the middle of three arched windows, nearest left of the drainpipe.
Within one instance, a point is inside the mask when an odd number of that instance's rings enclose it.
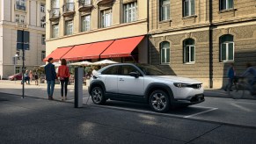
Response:
[[[191,63],[195,61],[195,47],[194,40],[187,39],[183,41],[183,59],[184,63]]]

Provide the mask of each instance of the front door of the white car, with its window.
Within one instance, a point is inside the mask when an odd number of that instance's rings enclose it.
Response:
[[[139,70],[132,65],[121,66],[121,74],[118,76],[118,92],[125,95],[143,96],[144,91],[144,77],[140,74],[139,77],[129,76],[130,72],[137,72]]]

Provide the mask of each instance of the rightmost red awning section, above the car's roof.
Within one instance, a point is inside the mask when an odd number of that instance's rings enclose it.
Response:
[[[132,37],[127,39],[115,40],[113,44],[106,49],[100,58],[128,57],[134,51],[135,47],[143,40],[144,36]]]

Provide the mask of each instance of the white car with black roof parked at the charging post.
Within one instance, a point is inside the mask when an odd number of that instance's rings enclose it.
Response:
[[[171,106],[203,102],[201,82],[178,76],[166,76],[147,64],[113,64],[93,71],[89,93],[94,104],[107,99],[150,104],[155,112],[167,112]]]

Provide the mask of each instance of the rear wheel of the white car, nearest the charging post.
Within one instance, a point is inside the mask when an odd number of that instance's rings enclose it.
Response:
[[[96,86],[91,90],[91,100],[94,104],[105,104],[106,98],[102,88]]]

